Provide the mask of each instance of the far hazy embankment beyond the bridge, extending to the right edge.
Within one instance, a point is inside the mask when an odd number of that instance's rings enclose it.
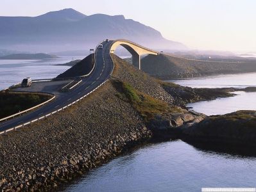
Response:
[[[256,72],[256,60],[248,61],[198,61],[166,54],[148,55],[141,61],[142,70],[151,76],[169,80],[173,78],[200,77],[216,74]]]

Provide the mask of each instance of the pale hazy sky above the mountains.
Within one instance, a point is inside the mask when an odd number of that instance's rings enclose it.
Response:
[[[255,0],[0,0],[3,16],[64,8],[85,15],[124,15],[192,49],[256,52]]]

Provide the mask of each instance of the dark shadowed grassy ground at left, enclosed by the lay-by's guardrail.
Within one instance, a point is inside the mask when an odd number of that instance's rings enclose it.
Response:
[[[49,95],[37,93],[0,92],[0,118],[19,113],[51,99]]]

